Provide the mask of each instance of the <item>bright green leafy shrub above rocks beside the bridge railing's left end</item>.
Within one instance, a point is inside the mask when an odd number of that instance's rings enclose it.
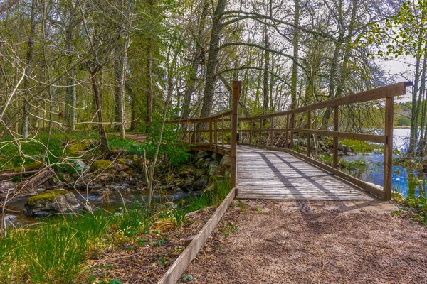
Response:
[[[168,112],[170,118],[174,111]],[[154,114],[152,124],[150,124],[147,131],[147,139],[144,143],[139,145],[131,146],[127,153],[134,155],[144,155],[144,150],[148,159],[154,158],[157,151],[157,145],[159,146],[159,157],[166,157],[169,159],[171,165],[180,165],[186,163],[189,160],[189,153],[184,145],[179,141],[181,132],[176,131],[175,124],[164,124],[163,133],[161,135],[161,129],[163,124],[163,118],[160,114]]]

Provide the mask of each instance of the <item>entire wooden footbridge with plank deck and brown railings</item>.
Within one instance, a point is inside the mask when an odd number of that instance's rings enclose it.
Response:
[[[238,117],[241,82],[236,81],[231,111],[174,123],[184,132],[192,149],[231,155],[231,186],[236,188],[240,198],[374,200],[379,197],[390,200],[394,97],[404,95],[409,85],[411,82],[401,82],[275,114]],[[381,99],[385,99],[384,135],[339,131],[339,108]],[[332,109],[333,131],[313,129],[312,114],[320,109]],[[295,121],[305,124],[305,128],[296,128]],[[293,150],[295,133],[305,135],[307,153]],[[204,136],[204,142],[196,142],[196,136]],[[314,136],[333,138],[332,166],[312,157]],[[384,187],[338,170],[339,138],[384,144]]]

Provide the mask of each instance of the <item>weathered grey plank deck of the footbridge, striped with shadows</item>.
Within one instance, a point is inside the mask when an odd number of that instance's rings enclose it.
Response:
[[[376,200],[364,190],[284,152],[238,146],[238,197],[276,200]]]

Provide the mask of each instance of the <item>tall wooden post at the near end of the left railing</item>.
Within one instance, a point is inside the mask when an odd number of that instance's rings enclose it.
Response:
[[[237,156],[237,110],[238,110],[238,97],[240,96],[242,88],[241,81],[233,82],[233,104],[231,109],[231,188],[236,187],[237,185],[237,165],[236,165],[236,156]]]

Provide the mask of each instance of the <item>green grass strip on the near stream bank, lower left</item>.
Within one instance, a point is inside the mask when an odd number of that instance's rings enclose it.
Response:
[[[214,190],[181,200],[176,206],[156,204],[147,211],[144,203],[135,202],[125,212],[100,210],[11,229],[0,237],[0,279],[2,283],[85,282],[90,273],[86,259],[100,251],[126,251],[129,244],[162,246],[162,231],[185,224],[189,212],[222,202],[229,190],[229,181],[223,179]]]

